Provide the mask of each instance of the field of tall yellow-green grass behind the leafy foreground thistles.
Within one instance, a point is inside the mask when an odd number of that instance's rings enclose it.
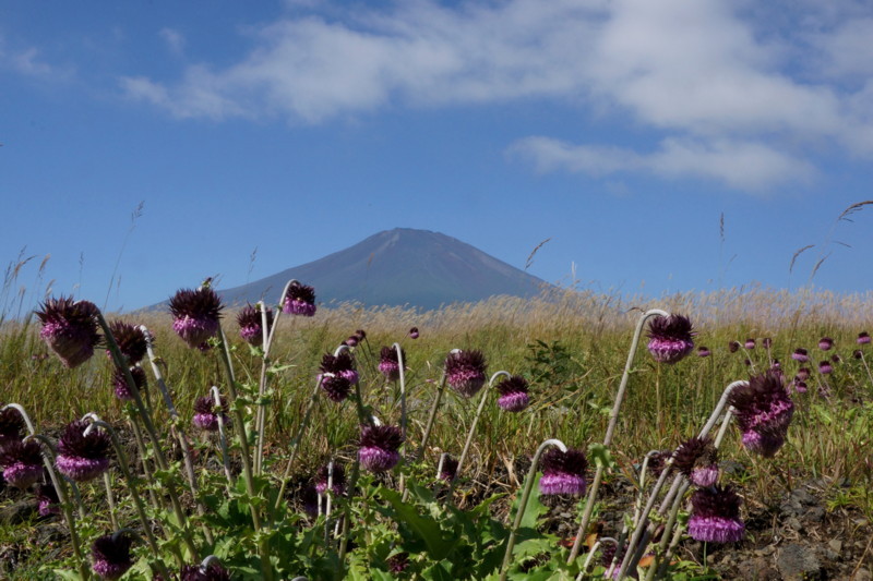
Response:
[[[871,294],[839,296],[827,292],[752,289],[677,294],[653,301],[566,291],[540,300],[495,298],[423,314],[404,308],[328,305],[320,307],[312,318],[284,317],[271,352],[274,373],[270,378],[265,473],[272,476],[273,485],[280,479],[289,441],[315,387],[322,355],[333,352],[356,330],[364,329],[367,339],[355,349],[361,397],[386,424],[399,423],[400,406],[397,385],[386,382],[376,370],[379,351],[396,341],[406,352],[408,453],[418,449],[450,350],[480,350],[488,361],[489,376],[505,370],[528,379],[531,404],[527,410],[510,414],[493,401],[485,407],[456,501],[471,508],[486,494],[503,491],[514,495],[524,479],[524,473],[513,473],[515,467],[519,460],[524,464],[542,440],[559,438],[582,449],[602,440],[634,326],[642,312],[654,307],[689,316],[697,331],[695,343],[708,347],[711,355],[702,358],[692,353],[675,365],[662,365],[648,355],[645,340],[641,342],[611,446],[617,462],[614,474],[630,476],[634,464],[648,450],[673,449],[695,435],[728,384],[763,373],[778,360],[788,382],[799,367],[810,367],[809,390],[792,394],[793,422],[785,447],[775,458],[751,456],[740,445],[737,431],[731,428],[728,433],[721,458],[748,468],[744,475],[733,479],[748,499],[745,504],[751,499],[762,505],[776,503],[797,483],[815,479],[833,483],[833,488],[826,491],[833,506],[848,507],[873,518],[870,493],[873,378],[868,367],[868,363],[873,363],[870,362],[873,346],[856,343],[860,331],[873,330]],[[225,367],[217,350],[188,349],[172,332],[169,314],[145,313],[120,318],[144,324],[155,336],[164,377],[180,415],[190,426],[196,398],[206,396],[213,385],[223,392],[226,390]],[[242,394],[255,394],[261,358],[237,335],[232,313],[225,314],[223,325],[239,388]],[[412,326],[420,330],[415,340],[407,335]],[[85,364],[67,370],[48,352],[38,330],[35,319],[7,320],[2,325],[0,404],[20,403],[38,429],[49,434],[57,434],[60,426],[87,412],[96,412],[104,421],[122,426],[128,412],[112,394],[110,361],[99,351]],[[817,348],[818,339],[825,336],[835,343],[826,352]],[[731,341],[744,343],[750,338],[756,340],[754,349],[740,348],[737,352],[729,349]],[[764,348],[765,338],[772,340],[769,349]],[[791,353],[796,348],[808,349],[812,360],[806,364],[793,361]],[[856,353],[858,350],[861,358]],[[824,360],[834,361],[833,373],[817,372],[820,361]],[[150,372],[154,384],[152,379]],[[168,425],[169,416],[154,385],[147,396],[156,425]],[[478,397],[468,400],[446,390],[423,465],[435,471],[441,452],[461,455],[478,402]],[[252,409],[253,406],[244,407],[243,412]],[[359,424],[351,398],[340,403],[318,398],[290,481],[304,482],[331,458],[350,462]],[[198,446],[204,453],[217,453],[205,438]],[[207,452],[210,448],[213,451]],[[421,465],[412,467],[407,476],[420,476],[422,470]],[[383,486],[396,484],[394,480],[380,482]],[[292,493],[295,486],[289,486]],[[84,491],[87,503],[94,507],[100,505],[101,486],[95,484]],[[0,496],[0,505],[21,496],[8,489]],[[382,498],[384,505],[385,497]],[[131,522],[135,521],[129,501],[124,503],[122,510],[132,516]],[[382,517],[368,513],[361,518],[381,522],[380,519],[388,519],[386,513],[387,509],[382,509]],[[507,520],[505,511],[500,518]],[[577,522],[575,515],[574,518]],[[108,522],[106,511],[100,509],[86,519],[92,533],[108,530]],[[19,552],[24,560],[16,565],[17,574],[25,574],[22,571],[33,574],[43,565],[40,560],[50,558],[45,546],[34,543],[33,535],[23,533],[21,528],[0,524],[3,555],[12,554],[10,547],[26,548]],[[70,553],[63,550],[60,556],[70,558]],[[7,568],[8,573],[12,570]],[[354,577],[350,571],[348,574]]]

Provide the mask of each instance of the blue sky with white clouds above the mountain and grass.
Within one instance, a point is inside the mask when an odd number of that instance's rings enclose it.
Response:
[[[0,2],[0,258],[135,308],[409,227],[602,291],[865,291],[871,37],[849,0]]]

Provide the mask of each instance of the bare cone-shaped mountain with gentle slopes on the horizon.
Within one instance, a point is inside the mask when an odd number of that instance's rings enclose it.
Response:
[[[290,279],[314,287],[318,303],[408,305],[424,310],[494,294],[533,296],[546,285],[459,240],[395,228],[318,261],[242,287],[219,290],[226,304],[278,301]]]

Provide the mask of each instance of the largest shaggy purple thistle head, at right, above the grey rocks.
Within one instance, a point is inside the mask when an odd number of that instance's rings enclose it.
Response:
[[[737,425],[743,434],[743,445],[752,451],[770,457],[778,450],[772,445],[785,441],[794,404],[788,396],[782,378],[773,372],[749,378],[749,384],[734,388],[728,402],[734,408]],[[776,437],[778,436],[778,437]]]

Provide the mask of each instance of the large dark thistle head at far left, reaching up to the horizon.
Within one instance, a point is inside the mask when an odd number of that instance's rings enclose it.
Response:
[[[97,306],[72,296],[48,299],[36,316],[43,323],[39,337],[67,367],[76,367],[91,359],[100,340],[97,332]]]

